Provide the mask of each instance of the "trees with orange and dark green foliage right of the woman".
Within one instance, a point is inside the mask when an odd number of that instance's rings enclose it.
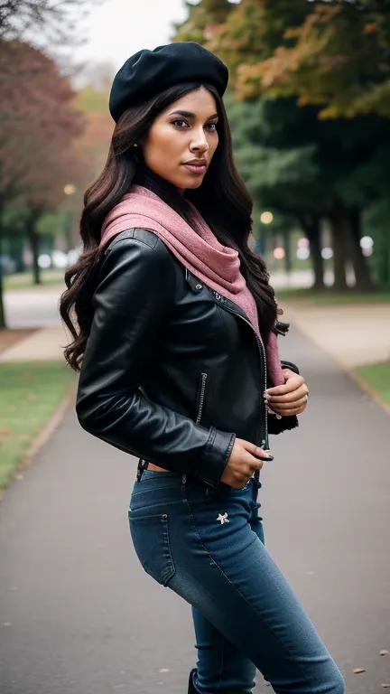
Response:
[[[347,288],[353,267],[356,287],[372,289],[360,239],[390,183],[390,0],[200,0],[188,10],[175,40],[200,41],[228,64],[237,164],[257,206],[298,221],[315,286],[325,229],[334,287]],[[390,258],[383,226],[378,247]]]

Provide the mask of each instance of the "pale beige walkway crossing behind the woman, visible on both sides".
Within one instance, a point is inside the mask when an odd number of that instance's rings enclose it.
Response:
[[[285,320],[346,369],[390,359],[390,305],[313,306],[283,301]],[[63,359],[70,342],[59,325],[38,330],[0,354],[0,362]]]

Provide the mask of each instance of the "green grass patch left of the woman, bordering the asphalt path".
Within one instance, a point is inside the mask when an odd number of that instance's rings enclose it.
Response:
[[[0,364],[0,489],[13,478],[73,380],[61,361]]]

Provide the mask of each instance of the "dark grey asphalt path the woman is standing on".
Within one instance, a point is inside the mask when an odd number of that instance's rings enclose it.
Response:
[[[288,316],[287,316],[288,319]],[[292,330],[311,389],[263,474],[268,549],[347,680],[390,683],[390,419]],[[185,694],[190,608],[147,577],[127,530],[135,460],[72,411],[0,504],[1,694]],[[354,674],[356,668],[365,670]],[[258,677],[256,694],[269,692]]]

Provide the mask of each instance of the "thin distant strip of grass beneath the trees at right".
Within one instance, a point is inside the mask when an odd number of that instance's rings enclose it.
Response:
[[[332,292],[327,290],[324,292],[315,292],[311,289],[276,289],[276,298],[279,302],[291,300],[302,301],[306,304],[318,306],[333,306],[333,305],[354,305],[354,304],[388,304],[390,303],[390,291],[383,292],[367,292],[360,294],[350,290],[345,293]]]

